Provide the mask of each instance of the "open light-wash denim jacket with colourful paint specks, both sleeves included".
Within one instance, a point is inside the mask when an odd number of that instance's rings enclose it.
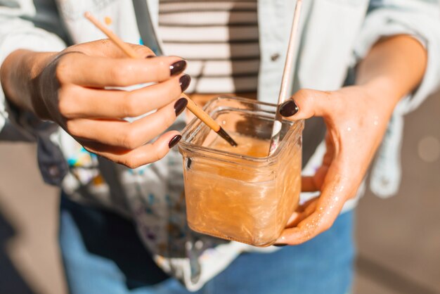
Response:
[[[155,34],[158,4],[159,0],[2,1],[0,64],[15,49],[60,51],[68,44],[105,38],[83,18],[84,11],[91,11],[98,18],[110,17],[110,28],[124,41],[143,43],[160,51],[160,35]],[[294,7],[295,1],[258,0],[261,101],[276,103]],[[371,188],[379,196],[393,195],[400,181],[402,117],[417,108],[439,84],[438,1],[304,0],[299,32],[292,93],[301,88],[339,89],[344,82],[353,80],[354,71],[350,69],[381,37],[410,34],[427,48],[425,77],[418,89],[397,106],[373,164]],[[179,118],[173,128],[183,126],[183,118]],[[133,218],[157,264],[189,290],[201,288],[243,251],[276,250],[216,241],[190,231],[182,197],[181,157],[176,150],[163,160],[136,170],[115,165],[87,153],[56,124],[8,106],[3,91],[0,139],[37,141],[39,167],[47,183],[61,186],[79,201]],[[313,173],[324,152],[321,144],[304,174]],[[308,197],[304,194],[302,200]],[[350,200],[344,210],[354,207],[356,201]]]

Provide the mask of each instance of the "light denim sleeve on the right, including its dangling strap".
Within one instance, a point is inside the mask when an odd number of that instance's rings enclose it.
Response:
[[[440,81],[440,4],[436,0],[371,0],[365,23],[355,45],[355,55],[363,58],[377,40],[409,34],[427,49],[425,76],[417,89],[401,99],[394,110],[371,169],[370,189],[382,198],[399,191],[400,148],[403,115],[414,110],[434,93]]]

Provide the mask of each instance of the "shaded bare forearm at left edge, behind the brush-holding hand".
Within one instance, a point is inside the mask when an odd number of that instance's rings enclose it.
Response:
[[[23,49],[9,54],[1,65],[0,78],[6,98],[11,103],[33,113],[39,113],[41,108],[32,102],[32,96],[38,91],[34,87],[34,79],[51,56],[53,53],[37,53]]]

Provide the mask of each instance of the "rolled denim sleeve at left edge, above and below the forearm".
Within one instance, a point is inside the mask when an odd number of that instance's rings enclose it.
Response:
[[[0,4],[0,65],[17,49],[33,51],[61,51],[65,41],[62,26],[58,23],[56,7],[34,6],[32,0],[1,1]],[[57,34],[58,33],[58,34]],[[48,122],[37,120],[30,113],[8,105],[0,89],[0,139],[36,141],[38,132],[46,129]]]

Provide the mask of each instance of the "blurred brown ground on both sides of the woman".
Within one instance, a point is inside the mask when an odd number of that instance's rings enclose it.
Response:
[[[405,123],[399,195],[357,209],[355,294],[440,294],[440,93]],[[1,142],[0,294],[67,294],[57,222],[35,146]]]

